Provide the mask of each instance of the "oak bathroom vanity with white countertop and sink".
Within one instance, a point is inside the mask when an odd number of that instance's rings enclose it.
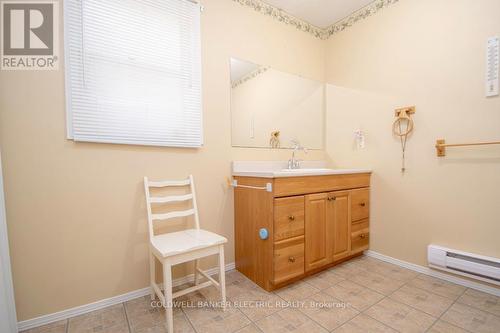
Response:
[[[233,162],[236,269],[268,291],[368,249],[371,170],[319,166]]]

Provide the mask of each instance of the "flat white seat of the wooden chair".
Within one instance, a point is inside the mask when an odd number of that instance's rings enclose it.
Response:
[[[151,245],[163,257],[227,243],[227,239],[203,229],[187,229],[154,236]]]

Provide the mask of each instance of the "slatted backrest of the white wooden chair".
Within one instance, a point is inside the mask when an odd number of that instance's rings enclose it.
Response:
[[[157,196],[152,197],[149,191],[150,187],[161,188],[169,186],[189,186],[191,190],[190,193],[184,195],[171,195],[171,196]],[[200,220],[198,217],[198,207],[196,205],[196,192],[194,188],[193,176],[189,175],[187,179],[183,180],[166,180],[166,181],[149,181],[147,177],[144,177],[144,191],[146,194],[146,208],[148,211],[148,230],[149,238],[154,237],[153,221],[157,220],[168,220],[176,217],[187,217],[194,215],[195,228],[200,229]],[[154,214],[152,212],[152,204],[157,203],[170,203],[170,202],[182,202],[182,201],[192,201],[192,208],[181,211],[170,211],[166,213]]]

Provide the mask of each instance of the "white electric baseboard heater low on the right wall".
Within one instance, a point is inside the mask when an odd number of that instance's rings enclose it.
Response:
[[[429,267],[500,285],[500,259],[448,249],[427,247]]]

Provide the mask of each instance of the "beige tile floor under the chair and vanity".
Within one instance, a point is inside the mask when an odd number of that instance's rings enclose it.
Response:
[[[176,332],[500,332],[500,297],[360,257],[269,293],[226,274],[230,306],[215,288],[179,299]],[[162,333],[165,315],[149,296],[26,333]]]

